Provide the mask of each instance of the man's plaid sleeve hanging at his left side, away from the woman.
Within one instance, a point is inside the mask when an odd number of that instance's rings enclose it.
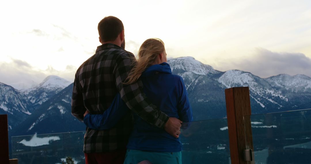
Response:
[[[78,120],[83,121],[83,114],[85,112],[86,108],[83,104],[83,95],[79,88],[78,76],[76,74],[72,89],[71,114]]]

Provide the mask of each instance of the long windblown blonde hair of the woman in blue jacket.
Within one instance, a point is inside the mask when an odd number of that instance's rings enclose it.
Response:
[[[138,80],[142,72],[151,66],[156,57],[164,52],[164,43],[161,39],[147,39],[139,48],[136,66],[133,67],[124,84],[132,84]]]

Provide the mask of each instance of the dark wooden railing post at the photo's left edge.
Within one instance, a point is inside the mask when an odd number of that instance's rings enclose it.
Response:
[[[0,161],[9,164],[9,136],[7,126],[7,115],[0,115]]]

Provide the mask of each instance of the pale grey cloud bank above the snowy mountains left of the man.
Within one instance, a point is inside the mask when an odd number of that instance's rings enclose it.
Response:
[[[39,70],[25,61],[12,59],[11,62],[0,62],[1,83],[11,85],[15,89],[27,89],[39,84],[49,75],[57,75],[73,82],[77,67],[68,65],[63,71],[48,66],[46,70]]]

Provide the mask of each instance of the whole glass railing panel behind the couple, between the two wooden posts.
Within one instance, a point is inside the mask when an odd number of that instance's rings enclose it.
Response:
[[[183,123],[180,140],[182,160],[186,164],[224,163],[230,161],[227,119]],[[85,132],[12,137],[12,156],[19,164],[62,164],[69,157],[75,164],[85,163]]]

